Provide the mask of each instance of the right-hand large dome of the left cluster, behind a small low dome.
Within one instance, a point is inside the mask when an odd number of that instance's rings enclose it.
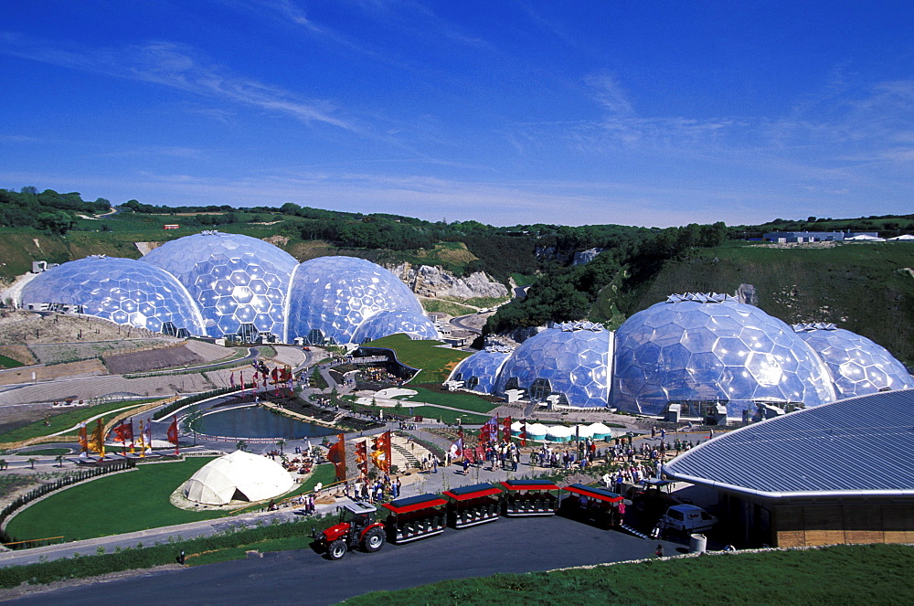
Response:
[[[292,274],[285,340],[303,337],[314,342],[314,332],[320,331],[322,338],[335,343],[354,342],[359,325],[381,312],[411,312],[414,319],[424,315],[407,285],[380,265],[356,257],[306,260]],[[385,336],[380,327],[391,320],[396,318],[368,324],[366,335]],[[437,331],[434,335],[437,338]]]

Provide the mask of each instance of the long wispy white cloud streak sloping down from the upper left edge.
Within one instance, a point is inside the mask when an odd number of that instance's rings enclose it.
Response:
[[[353,122],[338,117],[336,108],[328,101],[303,99],[281,87],[239,76],[229,69],[207,63],[197,57],[194,49],[171,42],[87,50],[63,48],[5,32],[0,33],[0,52],[72,69],[150,82],[202,97],[289,115],[305,123],[319,122],[349,131],[357,130]]]

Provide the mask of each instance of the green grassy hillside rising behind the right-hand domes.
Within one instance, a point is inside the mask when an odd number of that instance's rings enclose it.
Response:
[[[755,286],[758,304],[789,324],[834,322],[914,363],[914,243],[779,249],[730,245],[668,261],[617,300],[633,314],[673,292],[734,293]]]

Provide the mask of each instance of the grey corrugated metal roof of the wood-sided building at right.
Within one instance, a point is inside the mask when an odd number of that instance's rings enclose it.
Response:
[[[914,389],[838,400],[720,435],[664,465],[762,496],[914,495]]]

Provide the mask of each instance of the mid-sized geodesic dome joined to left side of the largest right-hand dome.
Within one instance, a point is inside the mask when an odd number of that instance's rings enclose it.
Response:
[[[558,396],[558,404],[609,406],[612,334],[600,324],[557,324],[530,337],[502,367],[495,393],[526,389],[532,401]]]

